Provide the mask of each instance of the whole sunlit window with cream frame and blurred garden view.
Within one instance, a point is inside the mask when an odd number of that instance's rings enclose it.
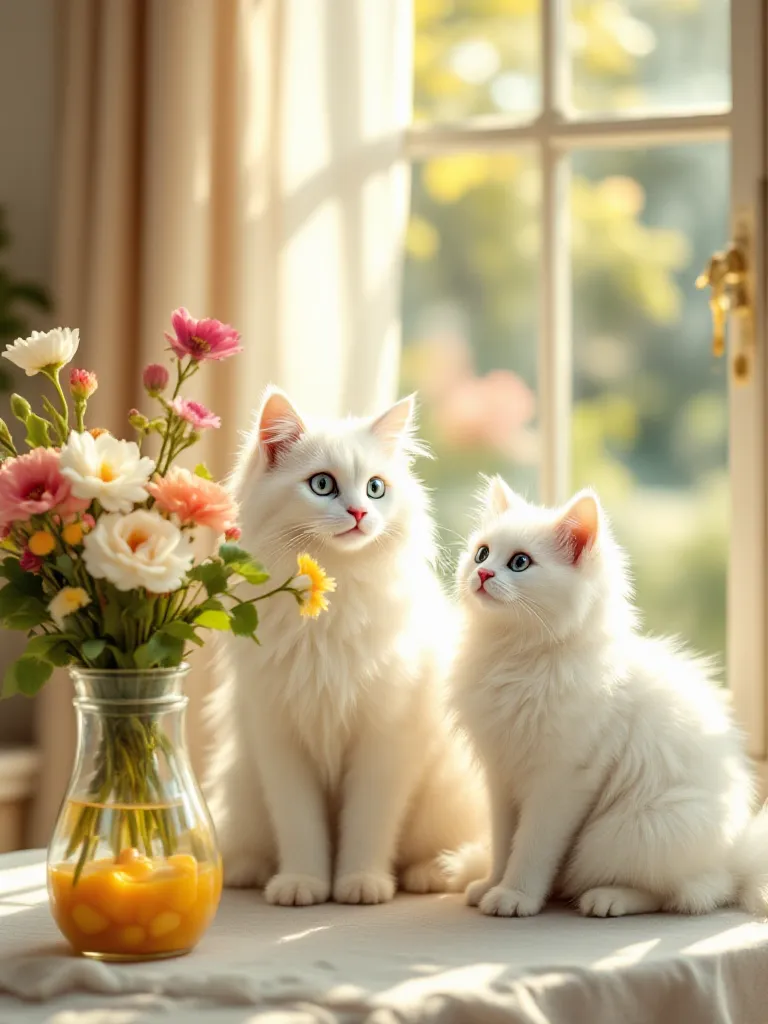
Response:
[[[415,0],[401,378],[446,548],[478,471],[594,484],[646,627],[727,667],[763,760],[765,369],[734,383],[695,288],[740,223],[760,251],[761,8]]]

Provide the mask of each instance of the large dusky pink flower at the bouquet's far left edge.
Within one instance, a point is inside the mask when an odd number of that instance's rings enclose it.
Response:
[[[53,509],[59,515],[72,515],[83,512],[88,505],[73,496],[53,449],[33,449],[27,455],[6,459],[0,466],[0,525],[26,522],[33,515]]]

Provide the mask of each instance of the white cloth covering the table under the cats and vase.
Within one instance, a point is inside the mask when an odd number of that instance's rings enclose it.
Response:
[[[0,1024],[766,1024],[768,924],[483,918],[455,896],[378,907],[224,894],[190,955],[106,965],[68,952],[43,855],[0,857]]]

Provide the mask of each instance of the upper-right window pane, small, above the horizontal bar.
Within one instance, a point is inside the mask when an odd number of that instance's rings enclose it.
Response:
[[[570,0],[568,40],[581,115],[730,103],[729,0]]]

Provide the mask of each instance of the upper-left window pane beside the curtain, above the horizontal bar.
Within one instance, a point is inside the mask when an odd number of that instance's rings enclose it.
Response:
[[[414,0],[414,118],[539,111],[540,0]]]

